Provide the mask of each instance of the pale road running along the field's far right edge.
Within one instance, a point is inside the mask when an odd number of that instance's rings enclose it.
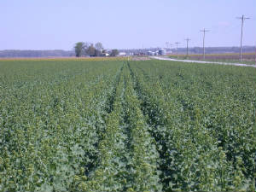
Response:
[[[195,63],[211,63],[218,65],[229,65],[229,66],[241,66],[241,67],[256,67],[256,65],[247,65],[241,63],[227,63],[227,62],[214,62],[214,61],[193,61],[193,60],[177,60],[160,56],[151,56],[151,58],[156,60],[166,60],[166,61],[180,61],[180,62],[195,62]]]

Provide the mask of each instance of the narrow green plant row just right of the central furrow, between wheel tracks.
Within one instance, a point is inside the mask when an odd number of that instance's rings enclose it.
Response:
[[[134,90],[131,73],[126,65],[126,109],[130,130],[130,148],[133,167],[131,191],[161,191],[159,153],[155,140],[149,134],[151,126],[140,108],[141,101]]]

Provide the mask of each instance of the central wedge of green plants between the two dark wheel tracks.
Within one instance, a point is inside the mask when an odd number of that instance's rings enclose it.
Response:
[[[139,103],[125,66],[99,143],[97,166],[88,175],[76,177],[75,190],[161,190],[159,154]]]

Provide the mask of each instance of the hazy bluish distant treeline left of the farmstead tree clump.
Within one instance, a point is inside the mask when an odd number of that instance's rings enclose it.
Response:
[[[66,57],[74,56],[72,50],[0,50],[0,57]]]

